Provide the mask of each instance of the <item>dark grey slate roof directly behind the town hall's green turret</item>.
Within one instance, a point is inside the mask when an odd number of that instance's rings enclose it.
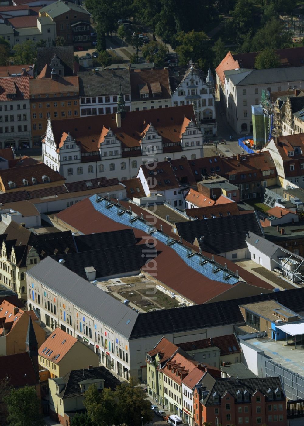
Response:
[[[113,69],[106,71],[78,72],[80,96],[124,95],[131,93],[130,72],[128,69]]]

